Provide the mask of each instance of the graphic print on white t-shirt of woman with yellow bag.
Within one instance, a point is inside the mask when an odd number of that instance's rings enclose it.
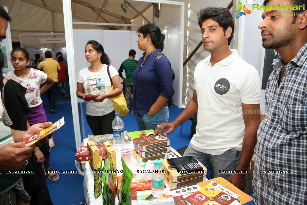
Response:
[[[86,80],[87,94],[97,95],[106,93],[104,77],[90,76]]]

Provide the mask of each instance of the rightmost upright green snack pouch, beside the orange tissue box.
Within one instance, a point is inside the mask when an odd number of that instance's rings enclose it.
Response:
[[[127,167],[122,159],[122,182],[120,183],[119,205],[131,205],[130,184],[132,180],[132,171]]]

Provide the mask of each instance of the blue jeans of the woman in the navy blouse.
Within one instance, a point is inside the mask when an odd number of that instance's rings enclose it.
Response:
[[[158,124],[168,122],[169,107],[164,106],[153,115],[149,115],[147,112],[145,112],[143,115],[138,115],[137,113],[132,112],[132,115],[138,124],[138,130],[155,130]]]

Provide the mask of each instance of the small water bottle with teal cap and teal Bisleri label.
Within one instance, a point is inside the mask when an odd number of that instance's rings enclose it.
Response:
[[[154,173],[151,175],[151,192],[156,198],[164,194],[164,173],[161,171],[161,160],[154,161]]]

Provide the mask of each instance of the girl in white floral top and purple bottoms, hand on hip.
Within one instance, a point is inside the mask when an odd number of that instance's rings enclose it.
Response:
[[[31,109],[27,114],[29,125],[47,122],[41,94],[52,87],[53,79],[40,70],[28,67],[30,63],[29,53],[23,48],[13,49],[11,62],[15,70],[5,73],[3,77],[4,80],[12,79],[28,89],[25,92],[25,98]],[[45,85],[40,89],[41,83],[45,83]],[[37,163],[44,163],[46,171],[52,170],[49,167],[49,143],[43,144],[39,149],[36,148],[34,155],[37,158]],[[59,178],[59,175],[52,172],[47,173],[47,176],[51,181],[56,181]]]

